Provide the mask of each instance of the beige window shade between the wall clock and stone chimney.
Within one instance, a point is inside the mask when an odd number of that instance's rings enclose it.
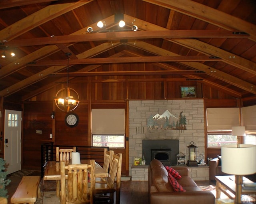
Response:
[[[125,109],[92,109],[92,134],[124,134]]]

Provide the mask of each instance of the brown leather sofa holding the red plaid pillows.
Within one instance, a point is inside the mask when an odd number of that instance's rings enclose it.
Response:
[[[178,183],[186,192],[175,192],[168,180],[168,172],[159,160],[152,160],[148,166],[149,204],[214,204],[215,196],[210,191],[202,191],[189,177],[187,167],[173,167],[182,178]]]

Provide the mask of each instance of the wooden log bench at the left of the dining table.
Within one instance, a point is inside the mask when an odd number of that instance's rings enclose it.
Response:
[[[23,176],[11,198],[11,203],[34,204],[37,200],[38,192],[40,192],[40,188],[38,188],[40,180],[41,176]]]

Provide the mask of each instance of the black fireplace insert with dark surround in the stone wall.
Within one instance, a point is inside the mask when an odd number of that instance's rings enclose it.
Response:
[[[164,165],[177,165],[179,140],[142,140],[142,152],[145,152],[146,165],[152,159],[160,160]]]

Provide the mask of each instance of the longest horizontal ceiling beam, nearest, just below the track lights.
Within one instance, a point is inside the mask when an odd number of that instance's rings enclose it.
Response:
[[[228,30],[159,30],[159,31],[124,31],[106,33],[86,33],[83,35],[53,36],[12,40],[4,43],[8,47],[49,45],[73,42],[150,39],[150,38],[248,38],[248,34]]]

